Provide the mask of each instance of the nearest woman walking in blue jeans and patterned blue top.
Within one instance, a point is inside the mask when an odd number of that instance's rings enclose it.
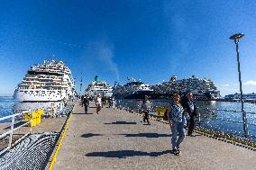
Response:
[[[185,139],[185,114],[187,115],[187,112],[184,112],[181,105],[180,95],[178,93],[173,94],[173,103],[170,103],[167,115],[171,130],[172,153],[176,156],[179,156],[179,146]]]

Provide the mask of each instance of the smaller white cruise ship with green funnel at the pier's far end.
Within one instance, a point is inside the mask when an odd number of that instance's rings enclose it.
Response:
[[[99,76],[95,76],[95,80],[87,86],[86,94],[92,97],[101,94],[102,97],[109,98],[113,96],[113,88],[101,81]]]

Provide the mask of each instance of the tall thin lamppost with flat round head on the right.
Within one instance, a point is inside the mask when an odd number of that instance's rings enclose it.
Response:
[[[243,109],[243,98],[242,98],[242,80],[241,80],[241,71],[240,71],[240,60],[239,60],[239,40],[244,36],[243,33],[236,33],[233,34],[233,36],[230,37],[231,40],[234,40],[234,43],[236,45],[236,57],[237,57],[237,64],[238,64],[238,75],[239,75],[239,85],[240,85],[240,96],[241,96],[241,109],[242,109],[242,122],[243,122],[243,131],[245,134],[245,137],[249,135],[248,133],[248,127],[247,127],[247,118],[246,118],[246,112],[244,112]]]

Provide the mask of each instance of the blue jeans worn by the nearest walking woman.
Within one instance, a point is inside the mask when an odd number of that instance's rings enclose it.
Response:
[[[179,147],[180,143],[185,139],[185,129],[184,122],[171,121],[171,144],[172,148],[176,149]],[[178,139],[177,139],[178,135]]]

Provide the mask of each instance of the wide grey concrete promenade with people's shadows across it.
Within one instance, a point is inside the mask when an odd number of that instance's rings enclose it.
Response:
[[[169,125],[103,108],[76,105],[53,169],[256,169],[256,152],[196,134],[181,156],[170,153]]]

